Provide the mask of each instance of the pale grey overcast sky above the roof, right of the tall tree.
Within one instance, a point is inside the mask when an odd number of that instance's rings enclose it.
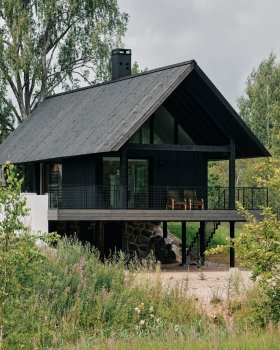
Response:
[[[279,0],[118,0],[125,48],[140,68],[195,59],[237,109],[253,68],[280,59]]]

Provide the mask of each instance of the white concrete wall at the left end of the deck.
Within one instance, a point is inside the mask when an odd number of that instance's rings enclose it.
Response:
[[[37,195],[35,193],[24,193],[26,206],[30,209],[29,216],[24,218],[31,230],[48,232],[48,195]]]

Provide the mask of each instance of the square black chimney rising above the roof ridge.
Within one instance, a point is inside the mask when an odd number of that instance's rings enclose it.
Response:
[[[112,80],[131,75],[131,50],[115,49],[112,51]]]

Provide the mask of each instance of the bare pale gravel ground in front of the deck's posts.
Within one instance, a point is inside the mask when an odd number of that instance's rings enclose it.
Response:
[[[154,278],[153,274],[148,275],[148,279]],[[183,284],[186,295],[212,317],[224,313],[229,300],[242,298],[253,285],[250,271],[209,262],[200,270],[196,266],[163,265],[160,276],[166,288]]]

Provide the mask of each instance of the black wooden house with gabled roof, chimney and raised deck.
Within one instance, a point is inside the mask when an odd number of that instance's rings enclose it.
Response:
[[[267,190],[235,187],[235,160],[268,151],[192,60],[130,75],[130,50],[113,51],[113,80],[50,96],[0,146],[24,165],[25,191],[49,194],[49,229],[102,253],[142,255],[150,231],[199,222],[189,252],[203,253],[235,210],[267,205]],[[208,188],[208,162],[229,160],[228,188]],[[234,253],[231,252],[231,266]]]

